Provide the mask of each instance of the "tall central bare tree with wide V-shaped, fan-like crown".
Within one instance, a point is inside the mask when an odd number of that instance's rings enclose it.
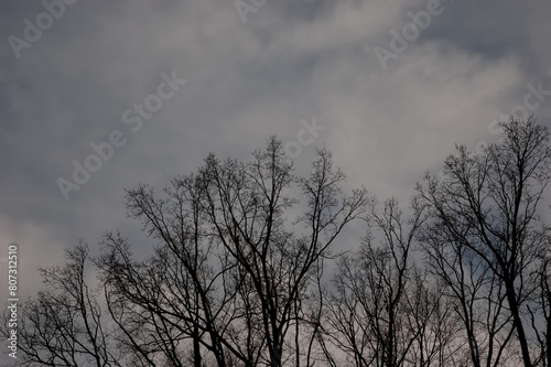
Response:
[[[267,364],[272,367],[284,363],[285,336],[300,321],[296,301],[304,299],[317,279],[320,260],[366,204],[365,190],[352,196],[342,194],[344,174],[333,170],[331,153],[320,151],[311,176],[298,181],[305,214],[293,226],[302,229],[290,231],[285,211],[296,203],[285,195],[294,181],[291,169],[281,143],[271,139],[267,150],[256,152],[249,164],[228,161],[220,165],[212,159],[204,171],[208,177],[205,207],[214,236],[236,260],[248,291],[259,302]]]

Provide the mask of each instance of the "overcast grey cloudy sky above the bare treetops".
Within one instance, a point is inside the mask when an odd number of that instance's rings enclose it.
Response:
[[[299,174],[325,145],[350,186],[406,204],[454,143],[493,141],[490,122],[522,105],[528,83],[551,89],[551,3],[541,0],[443,0],[383,69],[375,47],[390,50],[390,31],[425,9],[425,0],[268,0],[244,23],[234,1],[80,0],[18,58],[9,36],[23,39],[24,20],[35,24],[45,8],[2,1],[0,256],[19,244],[22,291],[79,238],[96,253],[106,229],[148,253],[123,188],[161,187],[209,152],[247,160],[269,134],[296,140],[300,121],[315,117],[326,129],[295,159]],[[172,72],[187,83],[132,132],[122,114]],[[545,98],[536,115],[549,125]],[[65,201],[56,180],[71,180],[72,162],[114,130],[127,143]]]

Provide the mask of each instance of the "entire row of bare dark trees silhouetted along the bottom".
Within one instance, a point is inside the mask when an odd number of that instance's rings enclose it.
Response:
[[[479,154],[457,147],[407,213],[363,187],[345,194],[325,150],[296,177],[276,138],[247,163],[209,155],[162,194],[139,185],[127,211],[152,255],[106,233],[98,257],[80,242],[42,270],[18,361],[551,366],[550,134],[533,118],[501,128]],[[335,253],[356,218],[359,249]]]

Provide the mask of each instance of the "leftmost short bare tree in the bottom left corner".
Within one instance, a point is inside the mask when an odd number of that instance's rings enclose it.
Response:
[[[66,250],[66,262],[41,269],[45,290],[24,302],[18,327],[18,366],[122,366],[98,300],[86,280],[84,242]],[[4,314],[0,335],[9,336]]]

